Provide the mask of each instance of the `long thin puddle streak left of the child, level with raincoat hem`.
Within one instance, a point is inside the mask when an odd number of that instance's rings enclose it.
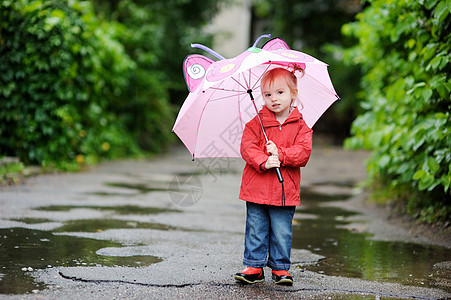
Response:
[[[122,205],[122,206],[77,206],[77,205],[50,205],[50,206],[41,206],[34,208],[35,210],[44,210],[44,211],[70,211],[71,209],[79,209],[79,208],[87,208],[87,209],[95,209],[95,210],[106,210],[106,211],[114,211],[119,215],[150,215],[150,214],[161,214],[168,212],[181,212],[176,209],[166,209],[166,208],[156,208],[156,207],[143,207],[137,205]]]

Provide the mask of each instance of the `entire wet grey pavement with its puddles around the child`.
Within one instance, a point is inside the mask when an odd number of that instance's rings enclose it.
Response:
[[[365,152],[316,146],[293,222],[295,284],[236,284],[243,162],[146,161],[0,189],[3,299],[446,299],[451,245],[386,222],[356,188]]]

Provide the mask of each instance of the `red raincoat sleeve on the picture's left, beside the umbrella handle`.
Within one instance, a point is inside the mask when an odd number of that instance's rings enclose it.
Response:
[[[262,147],[261,128],[255,122],[246,124],[241,138],[241,157],[252,166],[257,172],[265,171],[265,163],[268,160],[266,149]],[[264,145],[265,143],[263,143]]]

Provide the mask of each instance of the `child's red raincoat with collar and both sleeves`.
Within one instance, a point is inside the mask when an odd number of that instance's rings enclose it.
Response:
[[[266,140],[257,116],[246,124],[241,139],[241,156],[246,166],[239,198],[267,205],[300,205],[300,167],[304,167],[309,160],[313,131],[305,124],[298,109],[294,109],[283,124],[266,106],[263,106],[259,115],[268,139],[276,144],[279,151],[285,200],[283,202],[282,184],[275,170],[265,169],[268,159]]]

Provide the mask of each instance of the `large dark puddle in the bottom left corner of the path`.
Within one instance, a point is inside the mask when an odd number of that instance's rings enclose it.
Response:
[[[24,294],[42,290],[22,268],[46,269],[55,266],[148,266],[162,261],[153,256],[103,256],[96,251],[105,247],[121,247],[110,241],[100,241],[25,228],[0,229],[0,294]],[[0,275],[1,276],[1,275]]]

